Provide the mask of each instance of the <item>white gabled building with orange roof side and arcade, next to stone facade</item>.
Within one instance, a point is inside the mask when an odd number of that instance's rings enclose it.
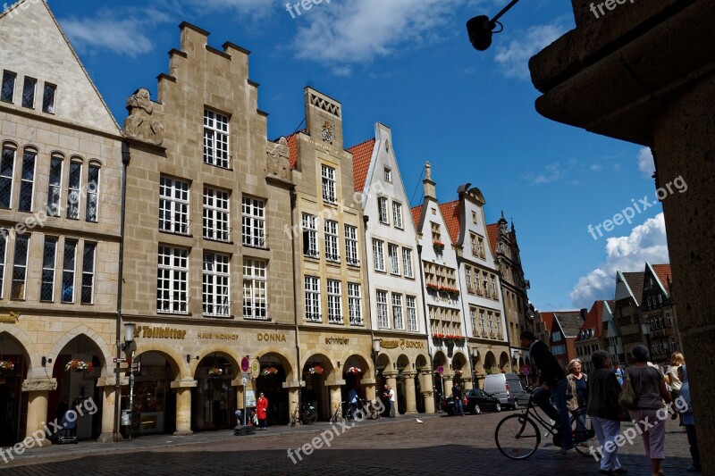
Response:
[[[399,413],[434,411],[417,234],[394,152],[391,129],[350,147],[356,198],[365,216],[369,313],[380,342],[377,384],[397,389]]]

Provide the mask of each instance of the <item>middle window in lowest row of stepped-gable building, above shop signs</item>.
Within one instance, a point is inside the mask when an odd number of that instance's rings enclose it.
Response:
[[[204,253],[201,307],[206,316],[228,317],[231,315],[229,284],[231,256],[219,253]]]

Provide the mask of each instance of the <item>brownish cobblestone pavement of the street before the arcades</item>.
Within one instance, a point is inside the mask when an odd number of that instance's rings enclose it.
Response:
[[[273,427],[254,436],[234,437],[227,431],[201,433],[191,437],[170,435],[142,437],[124,443],[32,448],[10,463],[0,459],[0,474],[14,475],[118,475],[151,474],[450,474],[478,473],[528,475],[598,475],[592,456],[574,451],[559,455],[557,447],[542,446],[525,461],[501,455],[494,444],[494,428],[506,414],[484,413],[464,418],[442,415],[395,420],[358,422],[335,433],[328,423],[291,429]],[[624,426],[623,429],[626,427]],[[288,448],[294,450],[313,438],[332,432],[330,447],[311,455],[301,453],[293,463]],[[317,441],[317,439],[315,440]],[[686,434],[674,422],[667,422],[663,471],[669,476],[686,475],[690,466]],[[640,437],[633,446],[619,450],[620,461],[632,476],[649,476],[650,464],[644,456]]]

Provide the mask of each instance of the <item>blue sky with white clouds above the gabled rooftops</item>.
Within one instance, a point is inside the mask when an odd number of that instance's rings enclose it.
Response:
[[[120,123],[135,89],[156,98],[177,26],[189,21],[211,32],[214,47],[231,41],[252,52],[269,138],[298,128],[305,86],[341,101],[346,146],[374,137],[375,121],[389,125],[408,196],[416,190],[412,205],[425,161],[442,202],[470,182],[484,193],[487,221],[502,210],[514,220],[534,305],[590,307],[612,298],[616,270],[669,261],[660,204],[601,228],[602,237],[588,229],[644,197],[655,201],[652,156],[535,112],[527,62],[573,28],[570,2],[519,3],[488,51],[472,49],[465,22],[507,3],[323,0],[291,15],[284,0],[49,0]]]

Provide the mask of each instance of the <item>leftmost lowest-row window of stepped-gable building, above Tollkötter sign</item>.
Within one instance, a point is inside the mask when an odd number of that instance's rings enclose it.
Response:
[[[184,314],[189,310],[189,250],[159,246],[156,312]]]

